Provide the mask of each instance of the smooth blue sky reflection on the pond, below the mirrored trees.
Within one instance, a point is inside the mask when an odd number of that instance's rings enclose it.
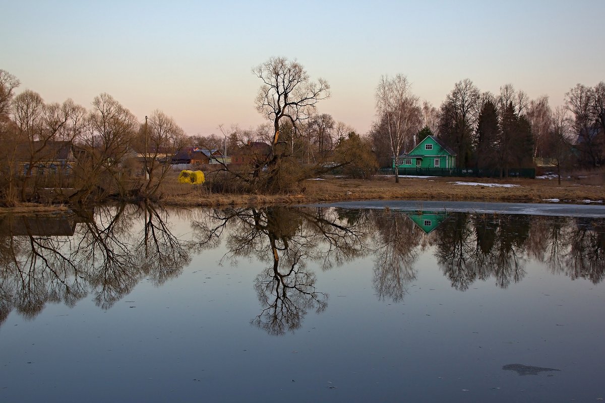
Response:
[[[186,230],[182,217],[173,227]],[[102,311],[89,296],[0,327],[5,401],[577,401],[601,396],[603,283],[528,262],[507,289],[451,288],[427,248],[401,303],[379,300],[373,256],[315,271],[327,310],[271,337],[253,280],[267,263],[218,265],[224,242],[161,287],[141,282]],[[503,371],[520,363],[549,377]],[[550,374],[550,373],[548,373]],[[294,382],[293,382],[294,381]],[[69,387],[65,387],[66,382]],[[111,387],[108,387],[111,385]],[[34,387],[35,386],[35,387]],[[331,389],[330,387],[336,387]],[[468,392],[462,392],[462,390]],[[525,392],[521,392],[521,391]],[[251,398],[253,396],[253,398]]]

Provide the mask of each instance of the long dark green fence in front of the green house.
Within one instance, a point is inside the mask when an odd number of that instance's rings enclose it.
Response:
[[[471,176],[474,178],[500,178],[499,169],[479,169],[479,168],[399,168],[399,175],[417,175],[417,176]],[[342,169],[333,169],[333,175],[339,175]],[[391,167],[381,168],[377,175],[394,175],[395,170]],[[534,168],[509,169],[508,175],[502,172],[502,176],[509,178],[535,178]]]

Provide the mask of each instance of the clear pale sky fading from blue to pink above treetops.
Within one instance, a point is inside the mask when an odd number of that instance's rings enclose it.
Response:
[[[45,102],[107,92],[143,121],[160,109],[189,135],[264,123],[252,68],[296,59],[332,96],[319,113],[364,134],[383,74],[437,108],[459,80],[506,83],[561,105],[605,80],[604,0],[0,0],[0,69]]]

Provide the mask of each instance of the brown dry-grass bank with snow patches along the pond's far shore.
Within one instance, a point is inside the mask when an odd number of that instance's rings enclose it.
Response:
[[[301,191],[289,195],[210,193],[204,185],[171,182],[163,187],[163,205],[173,207],[223,207],[268,204],[310,204],[359,200],[427,200],[603,204],[603,178],[493,179],[375,177],[369,181],[339,177],[309,179]],[[601,201],[601,202],[600,202]],[[22,204],[0,208],[2,213],[53,213],[68,211],[65,205]]]

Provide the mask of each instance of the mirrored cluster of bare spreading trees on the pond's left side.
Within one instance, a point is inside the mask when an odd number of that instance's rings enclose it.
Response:
[[[80,223],[73,236],[53,236],[48,228],[40,234],[27,225],[0,236],[0,321],[13,308],[33,318],[47,302],[74,306],[91,293],[108,309],[143,277],[161,284],[191,259],[166,225],[166,211],[152,205],[98,207],[94,216],[62,219]],[[134,233],[137,225],[142,230]]]

